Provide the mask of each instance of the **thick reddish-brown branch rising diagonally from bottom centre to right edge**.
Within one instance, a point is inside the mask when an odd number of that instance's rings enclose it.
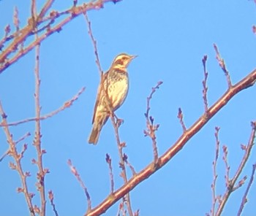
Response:
[[[121,188],[118,188],[118,190],[111,194],[111,196],[105,198],[105,200],[102,201],[102,203],[100,203],[97,207],[91,209],[91,211],[87,215],[100,215],[106,212],[108,208],[110,208],[113,204],[116,203],[116,201],[118,201],[125,194],[127,194],[138,184],[140,184],[140,182],[143,182],[143,180],[146,180],[148,177],[154,174],[155,171],[162,168],[162,166],[165,166],[165,164],[170,161],[170,159],[173,158],[174,155],[176,155],[184,147],[185,144],[187,144],[192,136],[197,134],[197,132],[200,131],[200,129],[203,128],[206,123],[208,123],[208,120],[214,117],[214,115],[216,115],[217,112],[222,109],[222,107],[225,107],[230,99],[236,96],[236,94],[238,94],[241,90],[244,90],[254,85],[255,81],[256,69],[248,74],[246,77],[244,77],[244,79],[242,79],[240,82],[236,83],[236,85],[233,85],[231,88],[227,89],[227,91],[219,98],[219,100],[216,101],[211,107],[209,107],[207,117],[205,113],[201,117],[199,117],[198,120],[178,138],[173,146],[170,147],[159,158],[158,166],[154,166],[154,164],[150,163],[148,166],[146,166],[145,169],[136,174],[136,176],[132,177],[127,182],[127,184],[124,184],[123,186],[121,186]]]

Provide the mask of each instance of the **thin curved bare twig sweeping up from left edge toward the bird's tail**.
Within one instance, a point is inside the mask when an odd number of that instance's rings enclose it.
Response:
[[[64,109],[67,109],[67,108],[71,107],[72,104],[76,100],[78,100],[79,96],[83,93],[83,91],[85,89],[86,89],[85,87],[81,88],[78,91],[78,93],[75,94],[75,96],[72,97],[72,99],[70,99],[69,101],[64,102],[62,107],[59,107],[59,109],[56,109],[53,112],[50,112],[50,113],[48,113],[46,115],[42,115],[39,118],[38,117],[31,117],[31,118],[20,120],[20,121],[14,122],[14,123],[9,123],[8,126],[18,126],[18,125],[20,125],[22,123],[28,123],[28,122],[35,121],[35,120],[45,120],[45,119],[48,119],[49,117],[53,117],[53,115],[57,115],[59,112],[63,111]],[[4,123],[0,123],[0,127],[4,127],[4,126],[5,126]]]

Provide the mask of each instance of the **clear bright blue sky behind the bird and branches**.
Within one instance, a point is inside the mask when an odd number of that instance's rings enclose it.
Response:
[[[38,5],[42,4],[40,1]],[[81,3],[81,2],[78,2]],[[59,1],[53,9],[66,9],[72,4]],[[27,23],[29,1],[0,1],[0,32],[12,23],[14,6],[18,7],[20,26]],[[213,44],[225,58],[233,83],[255,69],[256,38],[254,1],[135,1],[105,4],[104,9],[89,12],[91,27],[97,39],[102,68],[107,70],[118,53],[138,55],[129,65],[129,94],[116,114],[124,119],[120,128],[124,150],[136,171],[153,159],[151,141],[144,137],[146,97],[158,81],[163,85],[151,101],[151,115],[160,124],[157,131],[159,154],[169,148],[182,133],[177,119],[178,107],[184,113],[187,127],[203,114],[202,80],[203,55],[208,55],[208,102],[213,104],[227,89],[222,70],[215,59]],[[85,92],[69,109],[42,122],[42,147],[47,150],[45,166],[47,190],[55,194],[59,215],[83,215],[86,198],[67,160],[71,159],[80,172],[95,207],[110,192],[108,165],[105,154],[113,160],[115,187],[122,184],[118,176],[118,151],[113,126],[108,122],[102,129],[97,146],[87,143],[91,131],[91,117],[99,83],[94,50],[87,34],[83,16],[68,23],[60,33],[42,42],[40,76],[42,114],[61,107],[83,86]],[[34,51],[0,74],[0,100],[10,122],[34,117]],[[255,120],[255,87],[246,89],[232,99],[179,152],[173,160],[145,182],[132,190],[134,211],[141,215],[205,215],[211,209],[212,161],[214,159],[214,127],[219,126],[219,139],[229,150],[231,175],[242,157],[240,144],[246,144]],[[34,123],[11,128],[15,140],[30,131]],[[25,170],[35,174],[31,165],[35,157],[33,136],[26,139],[29,148],[23,158]],[[7,150],[6,137],[0,130],[0,154]],[[21,146],[21,145],[20,145]],[[0,163],[0,215],[28,215],[18,174],[8,167],[12,158]],[[244,169],[251,174],[255,150]],[[225,190],[224,163],[219,162],[217,194]],[[130,174],[129,174],[130,176]],[[35,178],[29,178],[30,190]],[[245,188],[240,188],[227,203],[223,215],[236,215]],[[249,194],[244,215],[255,212],[255,184]],[[34,198],[39,204],[39,198]],[[105,215],[116,215],[118,205]],[[53,215],[48,204],[48,215]]]

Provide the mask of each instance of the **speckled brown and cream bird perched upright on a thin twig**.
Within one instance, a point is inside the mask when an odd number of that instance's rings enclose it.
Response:
[[[110,116],[110,110],[115,111],[124,103],[129,89],[127,66],[136,56],[126,53],[117,55],[108,72],[103,74],[94,107],[89,143],[97,144],[102,126]]]

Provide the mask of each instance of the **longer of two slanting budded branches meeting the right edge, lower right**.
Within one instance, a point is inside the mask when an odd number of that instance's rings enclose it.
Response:
[[[239,83],[240,82],[238,82],[238,84]],[[236,87],[237,85],[235,85],[234,87]],[[235,191],[237,188],[240,188],[241,185],[244,184],[245,177],[244,177],[243,180],[238,182],[238,187],[235,188],[235,184],[238,180],[238,177],[240,176],[241,171],[244,169],[244,166],[245,166],[246,162],[248,161],[249,155],[251,153],[252,146],[255,142],[255,134],[256,134],[256,122],[252,122],[252,132],[251,132],[251,136],[249,138],[249,142],[246,145],[246,149],[245,149],[245,152],[244,152],[244,157],[242,158],[241,163],[239,164],[238,169],[237,169],[236,174],[234,175],[233,179],[228,181],[229,184],[227,185],[226,192],[225,192],[224,196],[222,196],[222,202],[219,204],[219,207],[217,209],[217,213],[216,213],[217,216],[222,214],[222,211],[225,207],[225,204],[227,203],[227,199],[229,198],[230,194],[233,191]]]

